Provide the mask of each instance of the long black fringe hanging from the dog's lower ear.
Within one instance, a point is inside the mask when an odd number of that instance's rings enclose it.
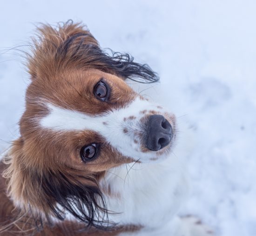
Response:
[[[106,230],[114,226],[108,221],[109,212],[94,176],[79,175],[78,180],[67,173],[51,172],[43,177],[41,188],[49,197],[45,199],[47,206],[58,219],[65,219],[63,210],[66,210],[84,223],[85,229],[93,226]]]

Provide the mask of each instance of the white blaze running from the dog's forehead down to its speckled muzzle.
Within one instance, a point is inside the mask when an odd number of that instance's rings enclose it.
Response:
[[[155,153],[141,153],[141,144],[134,142],[134,131],[141,131],[140,119],[144,116],[143,110],[160,111],[157,105],[137,97],[125,108],[108,111],[101,115],[86,115],[84,113],[57,107],[47,103],[49,114],[39,121],[42,128],[53,131],[83,131],[92,130],[101,134],[105,140],[122,155],[134,159],[147,160],[155,158]],[[135,116],[132,121],[125,121],[124,118]],[[124,133],[128,128],[129,134]],[[63,134],[65,135],[65,134]],[[139,140],[138,140],[139,141]]]

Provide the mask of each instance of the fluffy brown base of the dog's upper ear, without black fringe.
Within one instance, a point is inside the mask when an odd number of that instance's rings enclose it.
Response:
[[[51,77],[72,64],[80,44],[98,47],[97,40],[81,23],[58,23],[53,27],[40,24],[37,35],[32,38],[31,52],[26,53],[27,68],[31,78]],[[78,41],[81,39],[80,41]]]

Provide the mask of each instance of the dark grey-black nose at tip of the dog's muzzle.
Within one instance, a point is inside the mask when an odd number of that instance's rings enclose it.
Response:
[[[150,115],[146,146],[152,151],[166,147],[172,139],[172,127],[162,115]]]

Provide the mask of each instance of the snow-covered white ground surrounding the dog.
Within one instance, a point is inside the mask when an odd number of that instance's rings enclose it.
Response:
[[[18,136],[29,83],[17,51],[3,50],[26,45],[36,22],[83,21],[102,47],[159,72],[161,83],[143,94],[189,128],[180,136],[193,188],[182,213],[222,236],[255,236],[256,1],[52,2],[0,4],[0,149]]]

